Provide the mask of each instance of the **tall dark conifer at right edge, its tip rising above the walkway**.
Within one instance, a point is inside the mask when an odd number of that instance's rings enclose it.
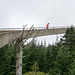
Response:
[[[67,28],[66,34],[63,36],[62,43],[64,46],[68,46],[69,51],[75,50],[75,31],[74,28]]]

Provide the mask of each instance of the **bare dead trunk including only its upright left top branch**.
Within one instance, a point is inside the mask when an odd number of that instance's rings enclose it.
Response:
[[[22,43],[25,26],[23,27],[22,35],[17,39],[17,60],[16,60],[16,75],[22,75]]]

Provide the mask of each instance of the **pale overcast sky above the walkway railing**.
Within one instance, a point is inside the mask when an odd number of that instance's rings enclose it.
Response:
[[[46,27],[48,22],[49,27],[75,26],[75,0],[0,0],[0,28]]]

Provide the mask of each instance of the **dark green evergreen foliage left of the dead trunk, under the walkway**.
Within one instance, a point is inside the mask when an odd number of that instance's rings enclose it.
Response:
[[[0,49],[0,75],[15,74],[16,67],[15,45],[6,45]]]

